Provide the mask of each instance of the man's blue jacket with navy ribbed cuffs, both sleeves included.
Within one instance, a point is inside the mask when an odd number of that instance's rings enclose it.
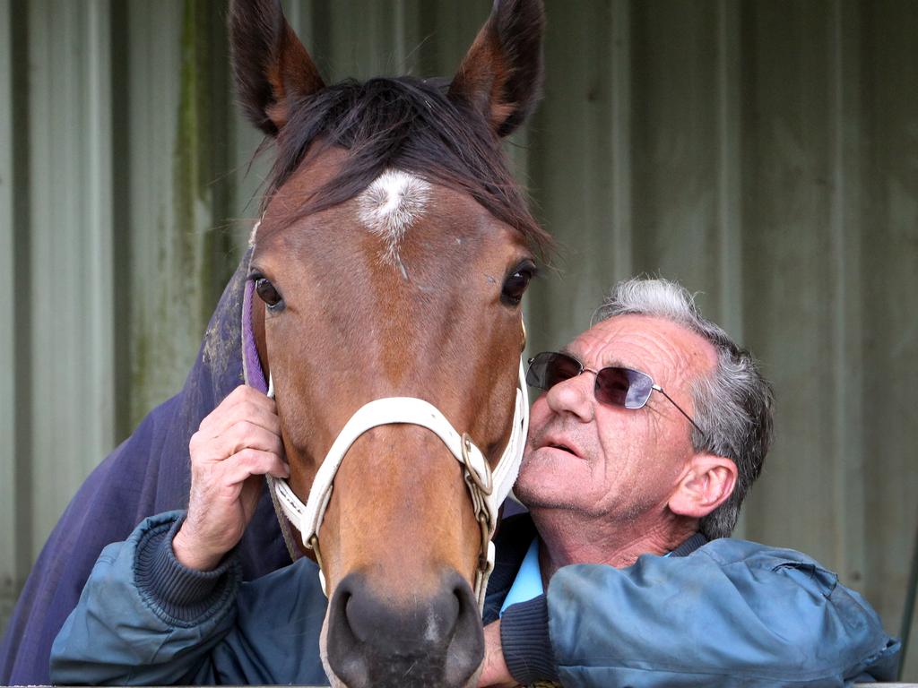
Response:
[[[217,571],[185,570],[171,546],[181,516],[154,516],[106,547],[54,641],[51,679],[327,684],[315,564],[299,560],[252,583],[241,583],[232,556]],[[507,547],[498,543],[486,620],[519,566],[520,542],[529,544],[520,535],[531,522],[516,524],[502,534]],[[565,567],[547,594],[509,607],[501,627],[537,631],[540,615],[549,647],[531,638],[527,657],[526,639],[514,641],[522,682],[843,685],[891,679],[900,650],[834,573],[799,552],[733,539],[683,557],[645,555],[627,569]]]

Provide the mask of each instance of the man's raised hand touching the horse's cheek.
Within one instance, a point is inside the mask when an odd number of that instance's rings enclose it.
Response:
[[[286,478],[274,399],[241,385],[201,421],[192,436],[188,516],[175,534],[175,558],[210,571],[242,538],[265,473]]]

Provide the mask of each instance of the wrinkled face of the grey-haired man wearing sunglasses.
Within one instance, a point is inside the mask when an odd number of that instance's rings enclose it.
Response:
[[[716,363],[704,338],[648,316],[604,320],[565,352],[593,371],[619,365],[646,372],[689,416],[692,381]],[[656,392],[640,409],[600,405],[595,383],[595,375],[584,373],[536,400],[514,492],[535,508],[636,518],[672,494],[694,453],[692,427]]]

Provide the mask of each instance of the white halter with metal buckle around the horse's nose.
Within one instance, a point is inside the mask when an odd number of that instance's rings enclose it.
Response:
[[[274,380],[269,382],[268,395],[274,396]],[[376,399],[362,406],[341,428],[338,438],[319,466],[315,480],[304,505],[290,485],[282,479],[268,476],[268,486],[275,504],[279,504],[285,516],[303,538],[303,544],[316,552],[319,560],[319,578],[322,590],[327,593],[325,576],[322,572],[319,554],[319,527],[331,499],[335,473],[344,460],[344,455],[354,441],[373,427],[407,423],[427,427],[453,454],[463,466],[465,484],[468,486],[475,508],[475,516],[481,527],[482,545],[476,571],[475,594],[479,610],[484,608],[487,579],[494,568],[494,543],[491,538],[498,522],[498,507],[509,494],[520,472],[522,450],[529,430],[529,394],[526,389],[525,372],[520,361],[520,375],[517,382],[516,402],[510,438],[500,456],[497,466],[491,471],[487,459],[468,435],[460,435],[436,406],[410,396],[391,396]]]

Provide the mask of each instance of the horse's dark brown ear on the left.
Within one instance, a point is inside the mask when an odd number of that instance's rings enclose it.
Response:
[[[229,46],[242,109],[266,134],[284,127],[293,101],[325,87],[280,0],[233,0]]]

